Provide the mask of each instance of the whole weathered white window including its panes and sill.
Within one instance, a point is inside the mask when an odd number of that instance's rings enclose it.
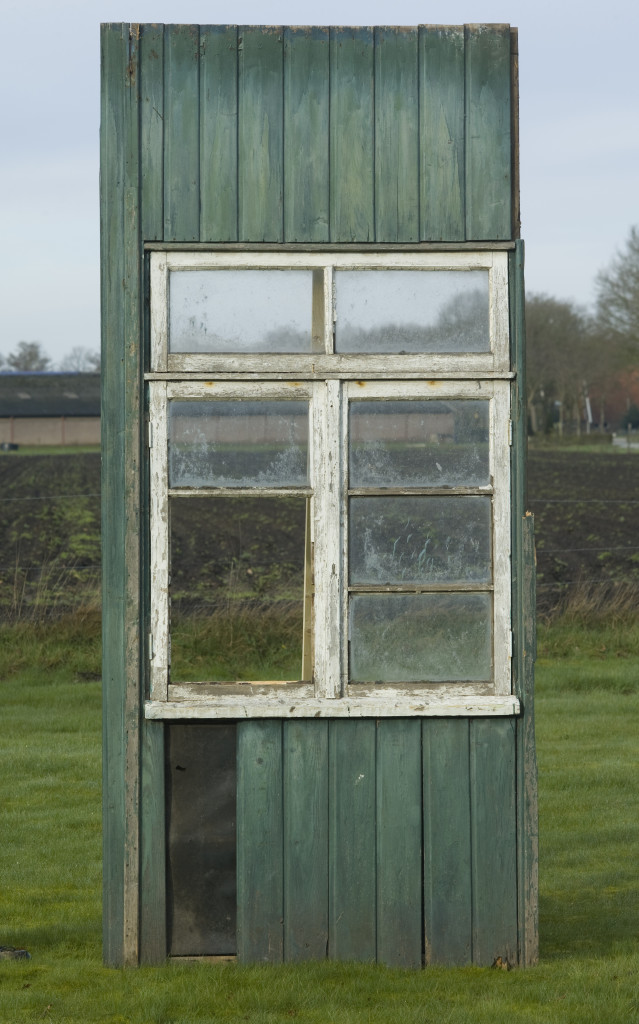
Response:
[[[507,254],[152,254],[148,717],[513,714]]]

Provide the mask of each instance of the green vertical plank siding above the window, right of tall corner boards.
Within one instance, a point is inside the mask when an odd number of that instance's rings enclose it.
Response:
[[[512,239],[512,39],[140,26],[144,241]]]

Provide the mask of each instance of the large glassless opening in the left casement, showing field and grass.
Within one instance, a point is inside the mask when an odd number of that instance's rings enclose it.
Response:
[[[306,501],[171,499],[172,682],[301,679]]]

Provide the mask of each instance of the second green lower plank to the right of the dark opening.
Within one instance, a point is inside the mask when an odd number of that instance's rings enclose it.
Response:
[[[329,940],[329,724],[284,722],[284,958],[323,959]]]

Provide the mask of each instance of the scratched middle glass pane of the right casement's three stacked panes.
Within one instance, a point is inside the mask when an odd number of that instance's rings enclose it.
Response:
[[[351,584],[488,583],[491,499],[351,498]]]

